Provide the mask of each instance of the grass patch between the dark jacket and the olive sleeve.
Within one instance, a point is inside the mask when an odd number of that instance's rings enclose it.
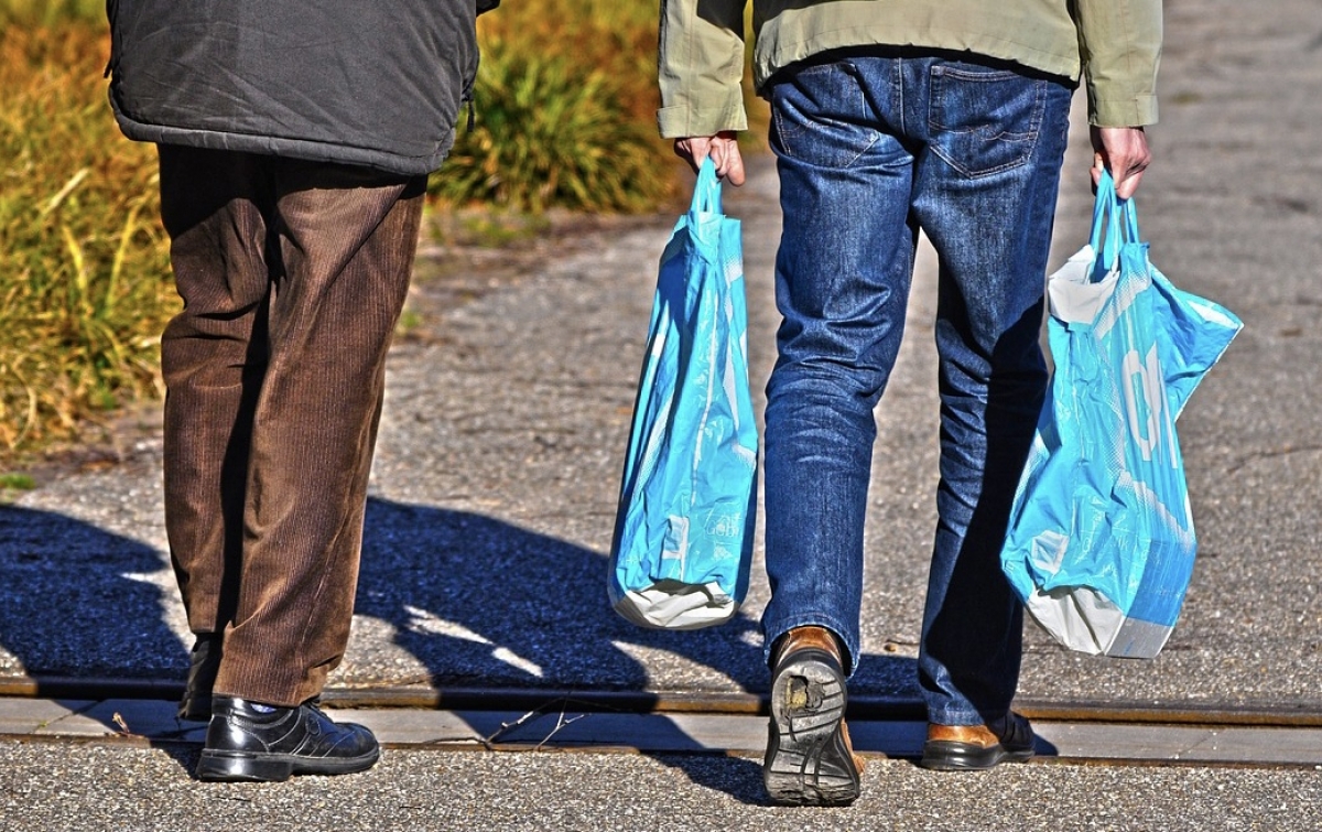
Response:
[[[674,193],[656,132],[657,9],[648,0],[508,3],[479,20],[475,127],[430,192],[538,213],[654,209]]]

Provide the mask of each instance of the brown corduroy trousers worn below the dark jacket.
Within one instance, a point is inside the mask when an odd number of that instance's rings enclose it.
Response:
[[[426,177],[160,146],[165,526],[214,692],[292,706],[349,640],[385,358]]]

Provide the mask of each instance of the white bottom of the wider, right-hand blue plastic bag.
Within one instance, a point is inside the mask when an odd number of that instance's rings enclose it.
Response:
[[[1060,644],[1083,653],[1117,659],[1153,659],[1173,627],[1129,618],[1105,595],[1087,587],[1038,590],[1026,602],[1029,615]]]

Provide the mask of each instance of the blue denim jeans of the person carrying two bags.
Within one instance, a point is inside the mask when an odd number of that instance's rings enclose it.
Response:
[[[919,675],[941,725],[1003,716],[1018,685],[1022,608],[998,554],[1047,382],[1038,333],[1072,95],[961,57],[838,56],[769,86],[784,321],[767,386],[768,656],[816,624],[857,667],[874,407],[921,229],[940,262],[941,479]]]

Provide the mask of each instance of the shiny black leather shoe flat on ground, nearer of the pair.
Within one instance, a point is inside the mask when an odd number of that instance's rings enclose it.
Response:
[[[271,708],[230,696],[213,702],[200,780],[279,783],[295,774],[353,774],[381,757],[371,731],[332,722],[312,704]]]

